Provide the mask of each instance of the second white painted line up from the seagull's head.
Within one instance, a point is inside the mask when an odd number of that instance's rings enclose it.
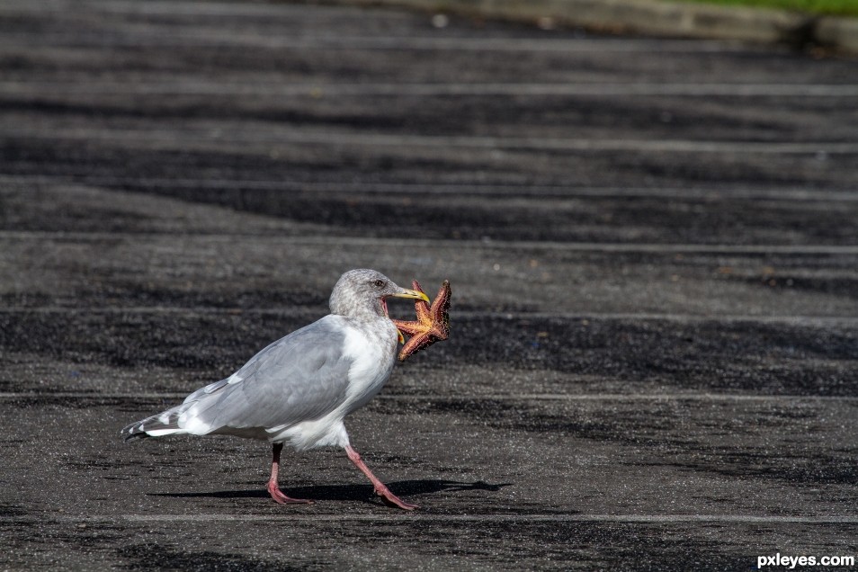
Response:
[[[62,185],[73,186],[130,186],[132,191],[145,189],[240,189],[246,191],[280,192],[328,192],[352,194],[398,194],[419,195],[455,195],[458,197],[517,198],[538,197],[552,199],[585,198],[669,198],[679,200],[764,200],[764,201],[819,201],[819,202],[856,202],[858,191],[834,189],[813,189],[784,187],[774,189],[737,188],[663,188],[663,187],[576,187],[545,184],[507,184],[507,183],[349,183],[319,181],[263,181],[250,179],[166,179],[158,177],[121,177],[91,174],[2,174],[0,183],[6,185]],[[72,189],[64,188],[64,191]],[[8,187],[0,188],[0,193],[10,192]]]

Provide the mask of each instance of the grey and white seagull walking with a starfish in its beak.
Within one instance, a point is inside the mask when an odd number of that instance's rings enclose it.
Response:
[[[429,298],[400,288],[374,270],[344,273],[331,293],[331,313],[257,353],[226,380],[197,389],[182,405],[122,429],[125,441],[174,434],[236,435],[272,443],[268,493],[282,505],[312,504],[280,489],[283,445],[295,451],[342,447],[389,505],[414,510],[391,493],[349,443],[343,419],[377,394],[393,371],[397,326],[389,297]]]

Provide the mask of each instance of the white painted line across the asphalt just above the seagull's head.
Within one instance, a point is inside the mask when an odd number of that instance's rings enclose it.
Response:
[[[131,232],[78,232],[46,230],[0,230],[0,240],[50,240],[100,242],[104,240],[129,239],[140,242],[145,238],[187,242],[234,242],[237,237],[260,243],[289,246],[338,246],[348,248],[385,248],[389,238],[374,237],[307,237],[254,235],[219,232],[217,234],[193,234],[182,237],[163,236],[159,233]],[[597,252],[597,253],[648,253],[648,254],[714,254],[714,255],[858,255],[858,245],[694,245],[657,243],[583,243],[524,240],[446,240],[424,238],[397,238],[397,247],[408,249],[474,249],[474,250],[522,250],[529,252]]]

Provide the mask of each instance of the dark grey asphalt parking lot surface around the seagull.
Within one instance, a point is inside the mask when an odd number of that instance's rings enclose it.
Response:
[[[4,0],[0,69],[0,569],[858,554],[856,62]],[[452,283],[349,423],[416,514],[341,451],[288,456],[318,503],[283,507],[264,443],[121,442],[360,266]]]

